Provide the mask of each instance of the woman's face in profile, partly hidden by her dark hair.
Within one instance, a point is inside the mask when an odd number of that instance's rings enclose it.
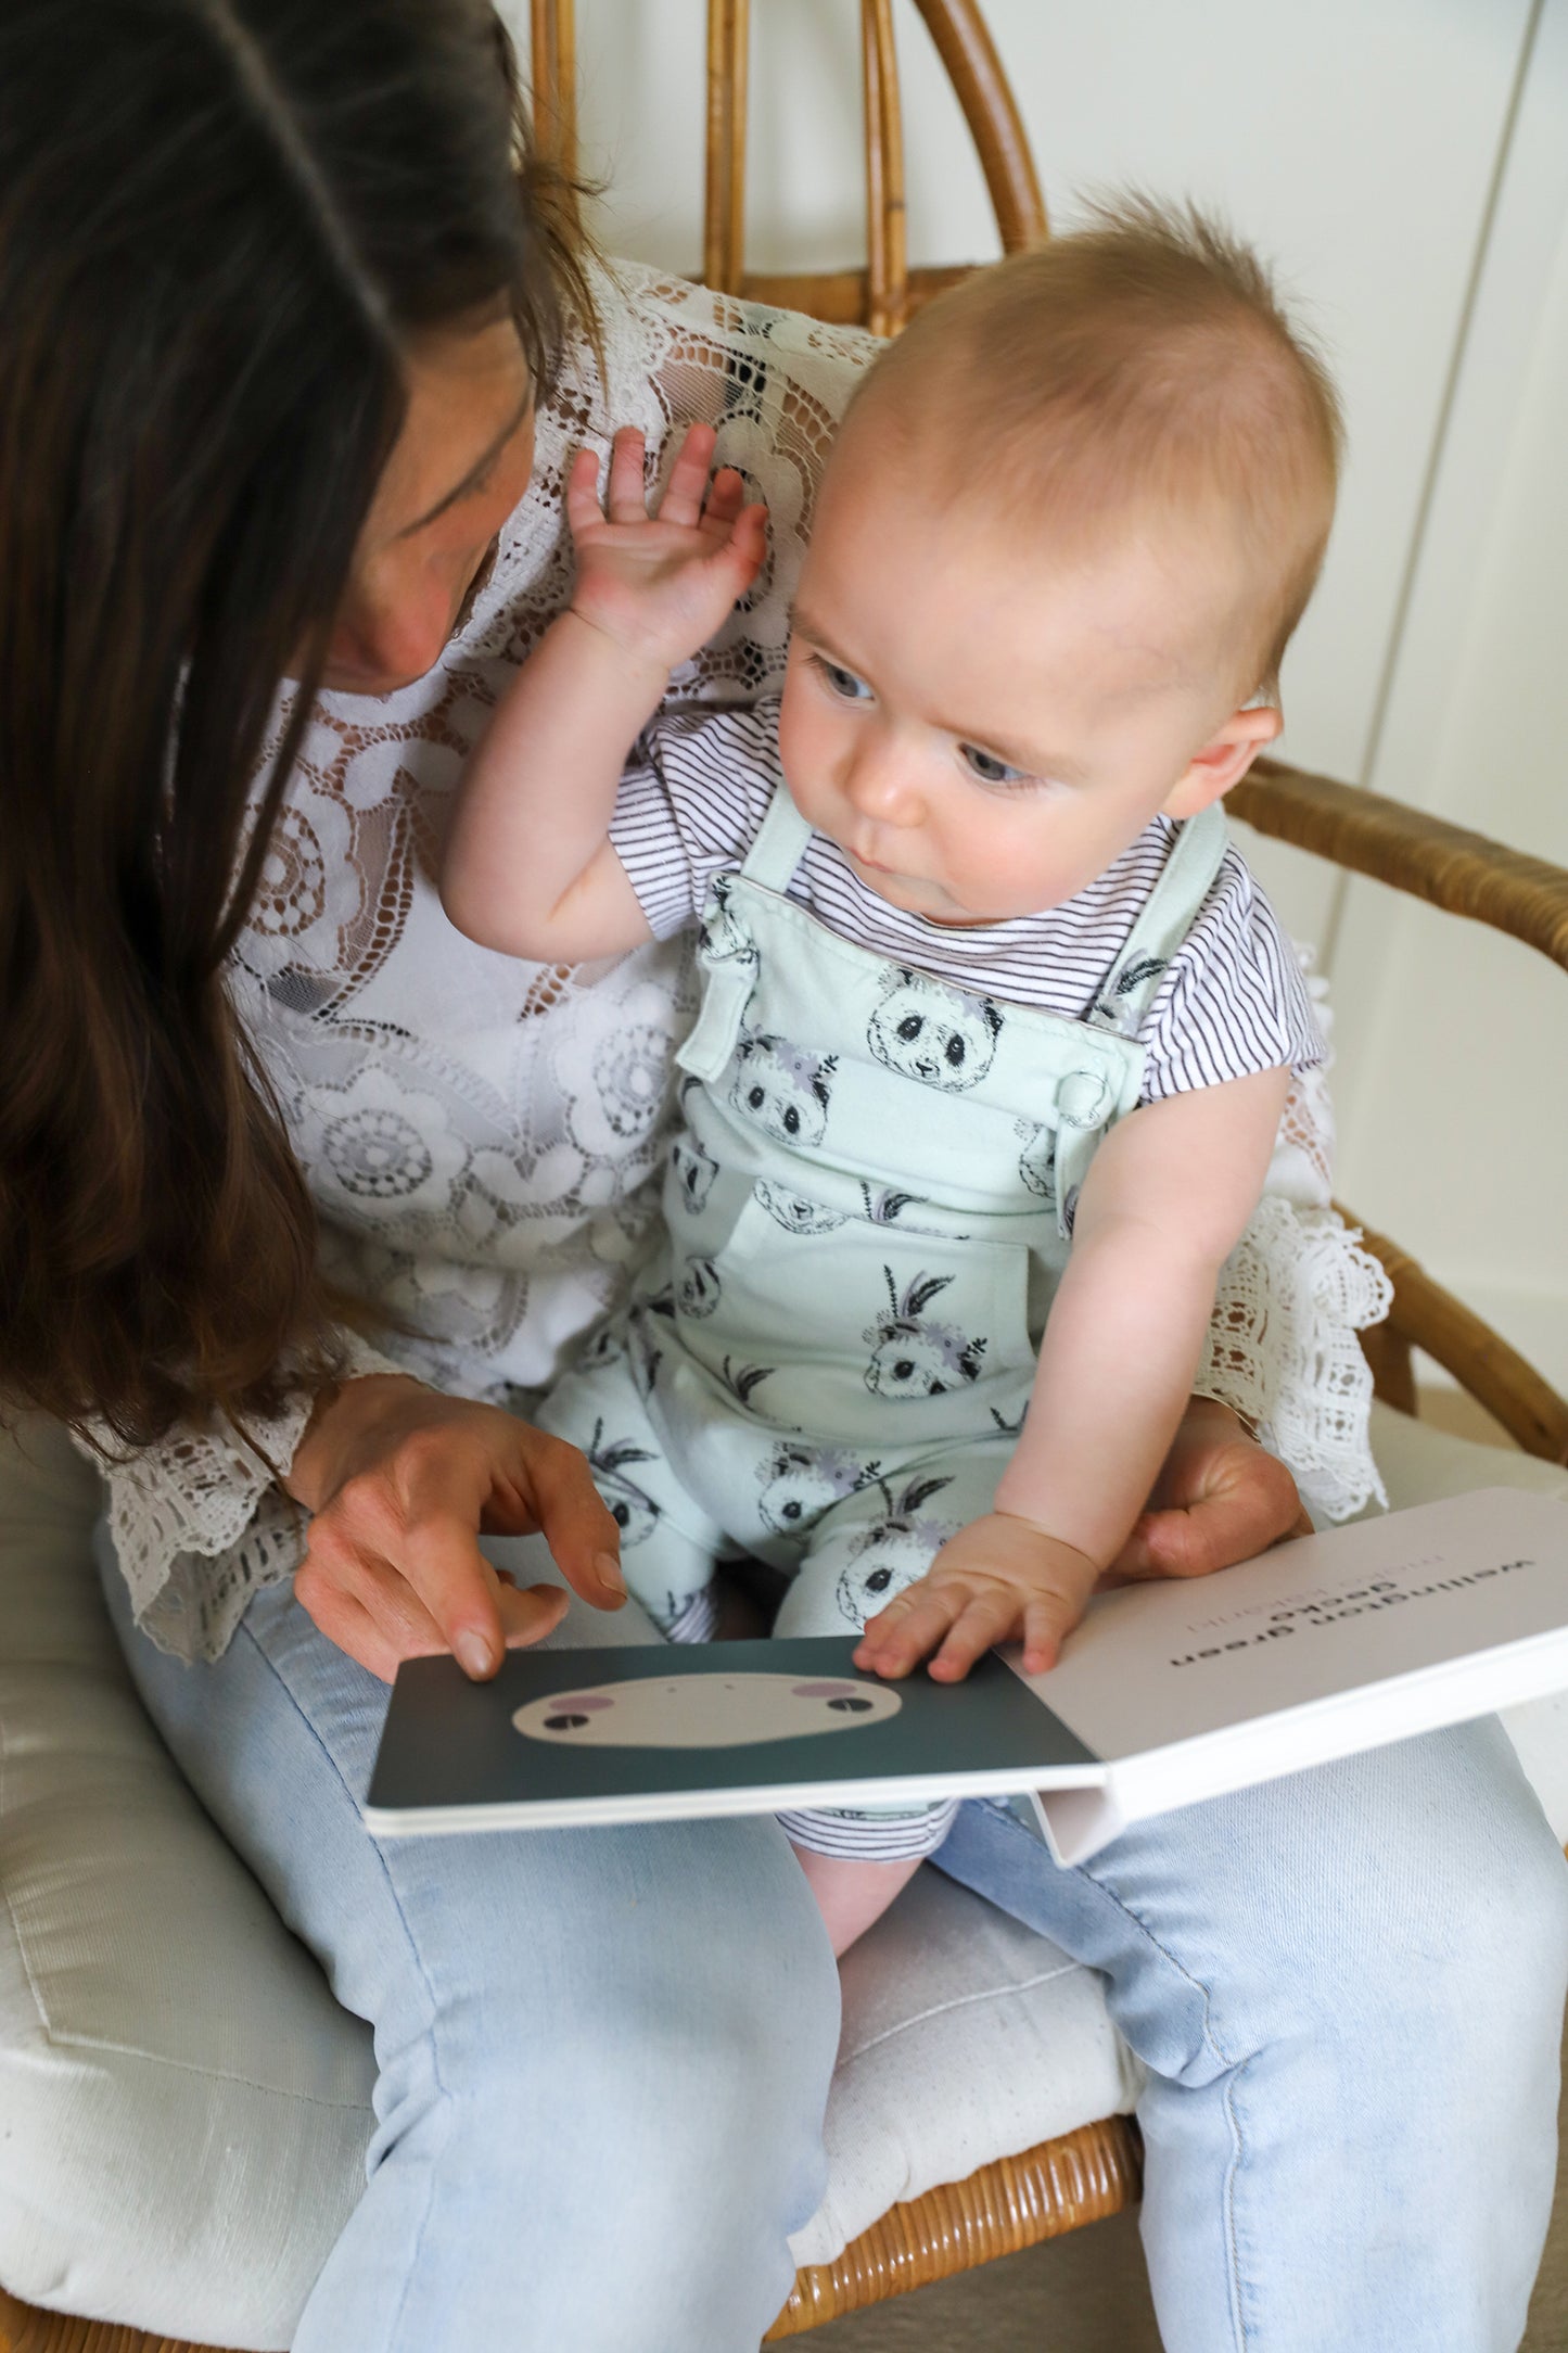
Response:
[[[510,318],[425,336],[407,386],[327,649],[322,682],[339,694],[393,694],[440,661],[534,466],[534,393]]]

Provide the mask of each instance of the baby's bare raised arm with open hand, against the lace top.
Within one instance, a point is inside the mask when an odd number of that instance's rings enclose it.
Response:
[[[691,426],[658,518],[642,487],[642,433],[616,435],[609,513],[592,449],[574,461],[571,607],[468,762],[442,861],[442,906],[487,948],[578,962],[651,936],[609,842],[621,769],[670,671],[722,626],[764,551],[762,508],[743,504],[733,468],[708,489],[710,459],[712,426]]]

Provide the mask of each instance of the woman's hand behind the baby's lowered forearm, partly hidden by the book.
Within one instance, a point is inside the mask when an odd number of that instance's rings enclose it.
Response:
[[[1309,1534],[1312,1520],[1286,1466],[1248,1435],[1227,1405],[1192,1398],[1150,1506],[1100,1584],[1208,1577],[1232,1560],[1267,1553],[1286,1537]]]

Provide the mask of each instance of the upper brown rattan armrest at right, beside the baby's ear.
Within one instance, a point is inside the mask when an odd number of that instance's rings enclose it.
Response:
[[[1312,849],[1453,915],[1490,922],[1568,972],[1568,873],[1401,800],[1258,760],[1227,795],[1258,833]]]

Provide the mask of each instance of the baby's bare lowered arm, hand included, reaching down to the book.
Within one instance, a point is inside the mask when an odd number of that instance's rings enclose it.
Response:
[[[1018,1449],[997,1508],[870,1621],[858,1666],[957,1680],[992,1642],[1056,1664],[1143,1511],[1192,1393],[1215,1278],[1267,1174],[1288,1071],[1131,1113],[1079,1195]]]

